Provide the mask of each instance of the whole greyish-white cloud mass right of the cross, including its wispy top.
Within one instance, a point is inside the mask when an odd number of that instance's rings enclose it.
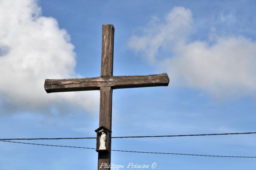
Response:
[[[191,41],[193,31],[191,11],[174,7],[165,21],[133,35],[128,46],[167,70],[171,85],[200,89],[218,99],[255,95],[256,42],[242,35],[218,36],[214,28],[207,40]],[[159,60],[162,51],[169,55]]]

